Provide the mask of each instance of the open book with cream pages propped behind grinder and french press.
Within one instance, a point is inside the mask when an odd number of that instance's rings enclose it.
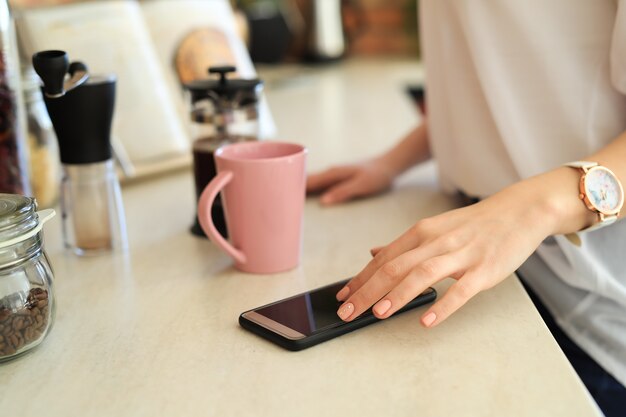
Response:
[[[175,65],[181,42],[190,33],[205,29],[218,35],[201,50],[216,62],[199,62],[234,65],[238,76],[256,78],[227,0],[81,2],[18,10],[16,20],[28,56],[61,49],[70,60],[86,63],[92,74],[117,75],[112,139],[126,177],[191,160],[188,103]],[[202,78],[208,77],[206,69]],[[275,134],[265,100],[260,129],[262,138]]]

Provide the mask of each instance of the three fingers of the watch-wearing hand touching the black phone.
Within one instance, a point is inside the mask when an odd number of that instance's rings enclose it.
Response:
[[[380,318],[388,317],[432,283],[454,274],[462,262],[456,254],[434,255],[429,253],[432,251],[433,246],[429,245],[385,263],[370,280],[349,295],[337,312],[339,317],[351,321],[377,301],[374,314]]]

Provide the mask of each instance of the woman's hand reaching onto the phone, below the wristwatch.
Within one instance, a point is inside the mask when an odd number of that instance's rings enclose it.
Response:
[[[577,199],[578,174],[561,168],[506,188],[477,204],[416,223],[374,258],[341,291],[345,321],[374,305],[384,319],[444,278],[456,282],[422,316],[441,323],[478,292],[511,275],[549,235],[593,221]],[[560,190],[560,191],[559,191]]]

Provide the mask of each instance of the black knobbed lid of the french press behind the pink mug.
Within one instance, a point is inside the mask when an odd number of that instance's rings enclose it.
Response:
[[[226,74],[235,72],[233,66],[210,67],[209,74],[219,74],[219,79],[196,80],[185,84],[195,97],[208,96],[213,93],[221,98],[232,99],[238,93],[256,93],[263,85],[258,78],[227,78]]]

